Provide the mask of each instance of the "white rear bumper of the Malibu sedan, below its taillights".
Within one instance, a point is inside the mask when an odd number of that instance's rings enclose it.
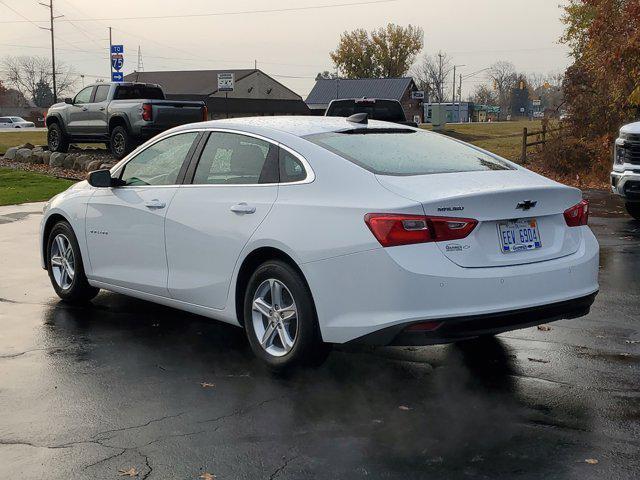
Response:
[[[409,324],[438,321],[443,322],[439,343],[451,341],[445,333],[461,322],[473,321],[465,329],[475,330],[482,330],[476,322],[487,322],[488,333],[494,333],[495,328],[505,331],[585,314],[588,309],[577,299],[598,291],[599,247],[588,227],[576,228],[582,239],[575,253],[525,265],[464,268],[436,244],[426,243],[378,248],[301,268],[324,341],[347,343],[391,328],[380,341],[387,344]],[[573,301],[571,311],[556,308]],[[533,313],[519,321],[513,312]],[[494,320],[505,324],[494,325]],[[450,322],[452,327],[446,327]]]

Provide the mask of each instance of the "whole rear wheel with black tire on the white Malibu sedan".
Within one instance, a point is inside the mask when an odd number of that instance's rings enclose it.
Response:
[[[261,311],[254,309],[258,299]],[[269,309],[272,316],[267,315]],[[319,365],[330,351],[322,342],[307,284],[280,260],[263,263],[251,275],[244,296],[244,326],[254,354],[272,371]]]

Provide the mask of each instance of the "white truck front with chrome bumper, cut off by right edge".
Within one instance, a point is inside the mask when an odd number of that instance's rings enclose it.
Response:
[[[611,189],[624,199],[629,215],[640,220],[640,122],[620,129],[613,150]]]

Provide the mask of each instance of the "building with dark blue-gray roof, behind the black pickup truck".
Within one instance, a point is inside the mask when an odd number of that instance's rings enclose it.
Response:
[[[411,77],[401,78],[319,78],[305,100],[314,115],[324,115],[331,100],[342,98],[384,98],[398,100],[408,120],[422,122],[422,99],[412,98],[418,91]]]

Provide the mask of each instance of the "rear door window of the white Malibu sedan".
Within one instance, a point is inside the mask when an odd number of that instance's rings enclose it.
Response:
[[[237,133],[211,132],[193,178],[194,185],[255,185],[278,181],[277,147]]]

